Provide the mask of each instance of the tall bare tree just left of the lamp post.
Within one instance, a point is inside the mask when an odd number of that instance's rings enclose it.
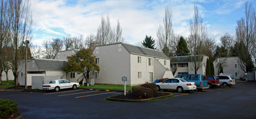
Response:
[[[11,60],[13,69],[14,80],[18,86],[18,66],[21,61],[21,51],[18,47],[22,46],[22,41],[32,39],[32,11],[30,10],[29,0],[10,0],[10,26],[11,26],[11,39],[12,47],[14,49]]]

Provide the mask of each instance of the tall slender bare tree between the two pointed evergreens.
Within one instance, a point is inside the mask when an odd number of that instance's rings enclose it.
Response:
[[[174,31],[172,30],[172,11],[171,8],[165,7],[164,26],[160,25],[156,35],[158,37],[158,47],[167,56],[171,56],[171,41],[174,38]]]

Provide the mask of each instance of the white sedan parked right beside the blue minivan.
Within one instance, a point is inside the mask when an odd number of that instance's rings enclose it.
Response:
[[[158,91],[161,89],[174,89],[178,92],[191,91],[196,89],[195,82],[189,82],[186,79],[174,78],[166,79],[164,82],[156,83]]]

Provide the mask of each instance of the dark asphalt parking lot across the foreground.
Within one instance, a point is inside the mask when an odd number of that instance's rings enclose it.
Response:
[[[25,118],[256,118],[256,82],[238,82],[203,91],[177,93],[149,102],[108,101],[115,91],[0,91],[18,103]]]

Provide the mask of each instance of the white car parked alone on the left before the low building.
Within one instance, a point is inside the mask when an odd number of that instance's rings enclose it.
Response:
[[[66,89],[66,88],[73,88],[76,89],[80,86],[79,83],[76,82],[69,82],[66,79],[57,79],[57,80],[51,80],[49,83],[44,84],[42,86],[42,89],[54,89],[54,91],[58,92],[60,89]]]

